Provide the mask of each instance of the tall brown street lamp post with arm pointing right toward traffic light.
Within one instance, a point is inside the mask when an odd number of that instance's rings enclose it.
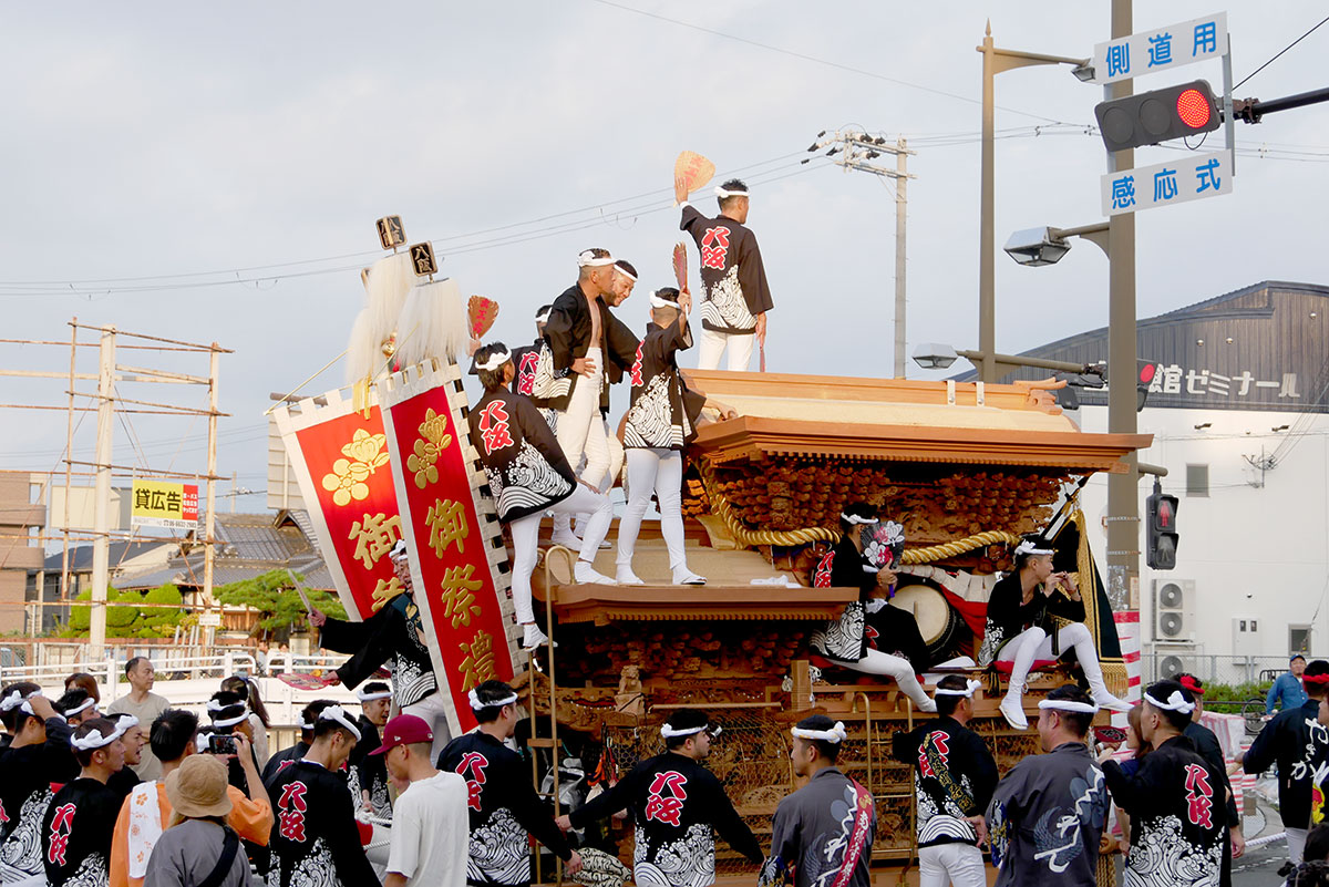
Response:
[[[994,141],[995,141],[995,98],[993,81],[997,74],[1029,65],[1071,65],[1082,72],[1088,58],[1067,58],[1065,56],[1045,56],[1042,53],[998,49],[993,45],[993,25],[987,21],[986,36],[977,50],[983,54],[983,150],[982,150],[982,201],[981,231],[978,243],[978,348],[989,357],[978,368],[978,377],[985,382],[995,382],[997,363],[991,357],[997,352],[997,243],[995,243],[995,191],[994,191]],[[1076,74],[1083,80],[1083,73]]]

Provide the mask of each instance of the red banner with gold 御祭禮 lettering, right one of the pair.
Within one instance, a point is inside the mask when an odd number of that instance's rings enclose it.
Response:
[[[452,368],[456,369],[455,366]],[[411,551],[415,602],[433,631],[439,689],[452,729],[476,725],[466,694],[486,680],[513,677],[504,590],[472,489],[468,428],[449,402],[451,382],[435,370],[415,384],[379,385],[387,404],[388,451]],[[505,555],[502,555],[505,556]],[[423,592],[423,594],[421,594]]]

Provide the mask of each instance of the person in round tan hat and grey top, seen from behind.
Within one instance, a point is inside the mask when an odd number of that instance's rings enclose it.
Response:
[[[247,887],[249,860],[226,826],[226,765],[210,754],[185,758],[166,777],[166,797],[171,826],[148,859],[145,887]]]

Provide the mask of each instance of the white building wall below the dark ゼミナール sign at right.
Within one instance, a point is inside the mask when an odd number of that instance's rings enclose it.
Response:
[[[1086,432],[1107,430],[1107,408],[1071,413]],[[1298,417],[1308,424],[1296,429]],[[1196,425],[1209,428],[1196,429]],[[1290,425],[1293,434],[1272,429]],[[1148,655],[1155,641],[1155,580],[1195,582],[1195,652],[1208,656],[1286,656],[1290,625],[1312,625],[1310,651],[1329,649],[1329,416],[1313,413],[1209,409],[1150,409],[1139,413],[1140,433],[1154,445],[1140,459],[1166,466],[1163,491],[1179,497],[1176,570],[1144,563],[1144,499],[1152,477],[1139,485],[1140,624]],[[1278,463],[1261,473],[1259,459],[1290,442]],[[1208,497],[1188,495],[1188,463],[1209,466]],[[1099,567],[1106,567],[1107,477],[1086,485],[1084,515]],[[1249,649],[1233,647],[1233,619],[1256,619]]]

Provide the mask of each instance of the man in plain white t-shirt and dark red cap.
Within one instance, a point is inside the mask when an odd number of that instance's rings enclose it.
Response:
[[[392,848],[383,887],[465,887],[470,819],[466,781],[433,767],[433,730],[415,714],[399,714],[383,728],[388,775],[409,785],[392,811]]]

